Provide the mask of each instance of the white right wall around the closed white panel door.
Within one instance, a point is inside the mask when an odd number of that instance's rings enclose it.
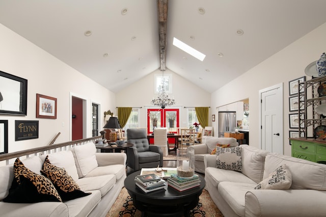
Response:
[[[211,95],[212,111],[216,107],[249,98],[250,103],[250,145],[260,147],[259,142],[259,94],[258,91],[276,84],[283,83],[284,90],[284,154],[291,155],[289,145],[289,87],[288,82],[305,76],[308,64],[319,59],[326,51],[326,23],[314,31],[280,50],[274,56],[263,61],[248,72],[234,79],[229,84]],[[266,42],[268,43],[268,42]],[[306,79],[311,79],[306,76]],[[293,113],[293,112],[292,112]],[[212,122],[216,129],[216,122]],[[292,129],[294,130],[294,129]]]

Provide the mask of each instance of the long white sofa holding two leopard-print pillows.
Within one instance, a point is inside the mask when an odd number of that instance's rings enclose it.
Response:
[[[41,175],[46,155],[22,159],[23,165]],[[7,203],[14,179],[13,165],[0,167],[0,216],[105,216],[118,197],[126,178],[125,153],[96,153],[94,143],[48,154],[52,165],[64,168],[79,185],[92,194],[63,202]]]

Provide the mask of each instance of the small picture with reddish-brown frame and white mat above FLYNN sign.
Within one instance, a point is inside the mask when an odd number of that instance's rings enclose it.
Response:
[[[57,119],[57,98],[36,94],[36,118]]]

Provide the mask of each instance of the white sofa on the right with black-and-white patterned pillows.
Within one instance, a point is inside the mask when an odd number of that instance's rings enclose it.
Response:
[[[216,156],[204,159],[205,188],[224,216],[325,216],[326,165],[239,147],[241,172],[216,168]],[[289,189],[255,189],[284,164],[292,176]]]

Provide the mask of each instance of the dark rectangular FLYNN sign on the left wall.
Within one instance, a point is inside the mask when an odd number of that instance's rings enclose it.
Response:
[[[39,121],[15,120],[15,141],[39,138]]]

